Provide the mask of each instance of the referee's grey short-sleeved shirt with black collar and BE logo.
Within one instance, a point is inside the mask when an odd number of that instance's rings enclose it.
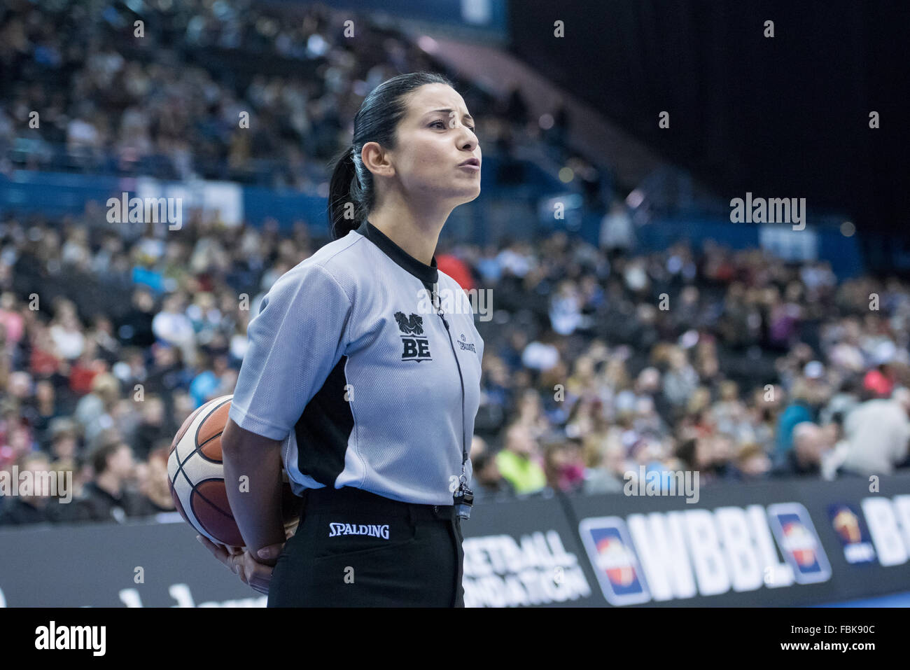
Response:
[[[351,486],[452,503],[483,340],[435,256],[425,265],[364,221],[275,282],[248,340],[228,415],[284,441],[294,492]]]

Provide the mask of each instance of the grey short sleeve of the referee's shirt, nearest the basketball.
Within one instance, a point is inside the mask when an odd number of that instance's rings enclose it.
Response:
[[[249,322],[228,416],[284,440],[341,359],[351,303],[329,270],[301,264],[268,290]]]

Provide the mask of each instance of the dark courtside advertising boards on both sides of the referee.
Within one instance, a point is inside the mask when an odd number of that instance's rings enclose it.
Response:
[[[877,488],[876,488],[877,487]],[[910,476],[475,505],[468,607],[787,606],[910,591]],[[258,607],[177,514],[0,528],[0,606]]]

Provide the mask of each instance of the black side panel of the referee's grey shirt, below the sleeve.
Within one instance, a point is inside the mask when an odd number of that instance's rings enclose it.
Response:
[[[347,361],[347,356],[341,357],[294,426],[300,472],[327,486],[344,470],[344,454],[354,429],[354,415],[345,400]]]

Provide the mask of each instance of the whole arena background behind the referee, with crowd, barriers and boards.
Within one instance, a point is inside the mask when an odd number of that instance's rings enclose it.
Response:
[[[168,452],[329,241],[361,102],[421,70],[483,155],[436,251],[485,342],[465,604],[907,606],[908,19],[0,3],[0,607],[265,606],[175,511]],[[753,635],[875,643],[795,612]]]

